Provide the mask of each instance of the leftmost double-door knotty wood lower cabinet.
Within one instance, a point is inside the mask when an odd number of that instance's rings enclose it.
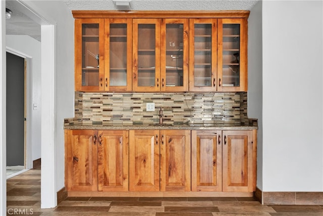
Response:
[[[128,191],[128,131],[65,131],[67,191]]]

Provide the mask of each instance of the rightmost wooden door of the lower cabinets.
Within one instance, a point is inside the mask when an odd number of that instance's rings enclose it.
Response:
[[[251,192],[252,131],[223,131],[223,191]]]

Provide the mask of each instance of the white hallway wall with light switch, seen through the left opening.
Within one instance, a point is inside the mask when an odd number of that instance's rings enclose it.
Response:
[[[31,57],[30,70],[27,71],[27,142],[31,145],[31,161],[41,157],[40,128],[41,128],[41,54],[40,42],[28,35],[7,35],[6,46]],[[33,104],[38,108],[33,109]],[[30,136],[30,137],[29,137]],[[31,166],[29,168],[32,168]]]

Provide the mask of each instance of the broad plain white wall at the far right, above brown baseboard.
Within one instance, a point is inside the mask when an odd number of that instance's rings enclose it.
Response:
[[[263,191],[323,191],[322,8],[262,3]]]

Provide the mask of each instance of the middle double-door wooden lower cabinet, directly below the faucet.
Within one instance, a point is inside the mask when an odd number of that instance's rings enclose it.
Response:
[[[190,191],[191,133],[131,130],[130,191]]]

